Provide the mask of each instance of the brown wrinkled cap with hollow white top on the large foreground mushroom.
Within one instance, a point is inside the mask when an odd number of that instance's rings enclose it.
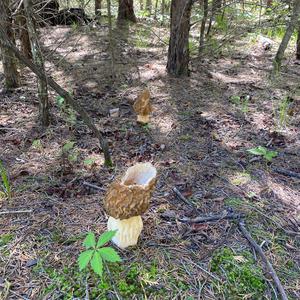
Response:
[[[140,216],[149,207],[156,182],[156,168],[151,163],[138,163],[116,180],[104,199],[107,214],[115,219]]]

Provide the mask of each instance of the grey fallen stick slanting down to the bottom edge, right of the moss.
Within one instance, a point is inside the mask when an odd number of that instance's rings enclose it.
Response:
[[[263,262],[266,264],[267,269],[269,270],[269,273],[271,275],[271,277],[274,280],[274,283],[281,295],[282,300],[288,300],[288,297],[285,293],[285,290],[280,282],[280,279],[278,278],[276,271],[274,270],[273,266],[271,265],[271,263],[269,262],[268,258],[266,257],[266,255],[264,254],[262,248],[256,243],[256,241],[252,238],[252,236],[250,235],[250,233],[247,231],[246,227],[245,227],[245,222],[244,220],[240,220],[239,221],[239,228],[241,230],[241,232],[243,233],[243,235],[245,236],[245,238],[248,240],[248,242],[250,243],[250,245],[255,249],[255,251],[260,255],[260,257],[262,258]]]

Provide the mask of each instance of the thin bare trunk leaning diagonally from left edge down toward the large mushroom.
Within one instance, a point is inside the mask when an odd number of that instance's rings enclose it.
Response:
[[[3,9],[2,2],[0,1],[0,16],[1,9]],[[94,135],[99,139],[101,149],[104,153],[104,164],[106,166],[112,166],[112,161],[109,153],[109,147],[107,141],[102,136],[101,132],[97,129],[92,119],[89,117],[84,108],[82,108],[77,101],[65,90],[63,89],[56,81],[51,77],[45,75],[44,72],[40,70],[38,66],[33,64],[29,59],[27,59],[19,49],[11,43],[6,32],[0,26],[0,46],[6,48],[10,53],[13,53],[24,65],[26,65],[37,77],[41,80],[47,81],[49,86],[53,88],[61,97],[63,97],[73,108],[74,110],[82,117],[86,125],[91,129]]]

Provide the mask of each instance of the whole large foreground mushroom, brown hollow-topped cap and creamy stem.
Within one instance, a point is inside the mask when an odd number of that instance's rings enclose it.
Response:
[[[112,241],[118,247],[124,249],[137,244],[143,229],[141,215],[149,207],[156,174],[151,163],[138,163],[109,188],[104,199],[104,208],[109,215],[107,228],[117,230]]]

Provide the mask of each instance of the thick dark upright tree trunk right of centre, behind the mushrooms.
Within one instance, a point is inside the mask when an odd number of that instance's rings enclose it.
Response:
[[[193,0],[172,0],[167,70],[175,76],[188,75],[189,31]]]

